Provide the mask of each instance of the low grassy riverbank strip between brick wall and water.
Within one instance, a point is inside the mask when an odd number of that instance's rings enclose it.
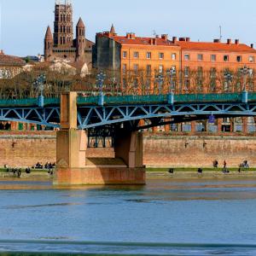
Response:
[[[147,179],[226,179],[226,178],[256,178],[256,168],[241,169],[230,168],[228,173],[222,172],[222,169],[204,168],[202,173],[198,173],[195,168],[173,168],[173,172],[169,172],[170,168],[148,168],[146,172]],[[32,170],[30,174],[26,174],[25,170],[21,170],[20,177],[13,172],[6,172],[0,169],[0,180],[15,181],[33,181],[46,182],[52,181],[54,175],[48,173],[48,170]]]

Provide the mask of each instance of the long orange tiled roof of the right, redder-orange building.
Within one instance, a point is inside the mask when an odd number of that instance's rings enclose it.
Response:
[[[182,49],[256,53],[256,50],[247,44],[177,41],[177,45],[179,45]]]

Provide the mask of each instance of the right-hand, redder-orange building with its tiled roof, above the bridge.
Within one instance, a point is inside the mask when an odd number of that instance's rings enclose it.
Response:
[[[236,39],[221,43],[190,42],[189,38],[174,38],[181,51],[183,92],[239,92],[244,87],[242,69],[247,70],[247,90],[255,90],[256,50],[253,44],[240,44]],[[204,86],[208,84],[208,86]]]

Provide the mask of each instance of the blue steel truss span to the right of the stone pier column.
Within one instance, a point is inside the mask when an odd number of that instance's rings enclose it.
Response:
[[[115,125],[140,119],[153,120],[158,126],[160,119],[172,118],[172,123],[207,119],[210,115],[216,118],[256,116],[256,104],[245,103],[201,103],[201,104],[161,104],[129,105],[108,107],[80,107],[78,112],[79,128],[90,129],[104,125]],[[156,120],[154,122],[154,120]],[[152,126],[154,126],[151,125]]]

